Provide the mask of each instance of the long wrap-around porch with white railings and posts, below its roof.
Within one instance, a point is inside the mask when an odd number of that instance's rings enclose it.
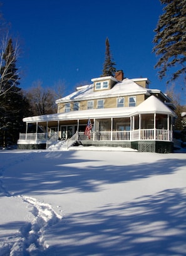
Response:
[[[66,140],[93,141],[172,141],[172,117],[167,114],[137,114],[132,117],[91,119],[90,137],[85,136],[87,119],[26,123],[26,133],[18,143]],[[34,129],[36,129],[35,132]]]

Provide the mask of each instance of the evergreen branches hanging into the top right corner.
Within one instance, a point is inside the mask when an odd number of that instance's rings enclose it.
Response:
[[[158,73],[159,78],[162,79],[170,68],[178,65],[177,71],[172,72],[170,80],[175,80],[180,75],[186,79],[186,1],[160,0],[160,2],[164,4],[164,13],[159,18],[153,39],[155,43],[153,51],[160,56],[155,68],[160,68]]]

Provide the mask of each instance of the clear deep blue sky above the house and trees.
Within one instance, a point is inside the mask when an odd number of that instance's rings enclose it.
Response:
[[[91,83],[101,75],[108,37],[117,70],[128,78],[148,77],[150,88],[165,92],[152,53],[153,29],[162,14],[159,0],[1,2],[4,18],[21,45],[21,88],[30,88],[37,80],[53,87],[62,80],[68,93],[76,85]]]

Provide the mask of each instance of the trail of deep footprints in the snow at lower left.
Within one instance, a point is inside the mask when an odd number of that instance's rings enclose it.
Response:
[[[44,241],[44,234],[49,227],[58,223],[62,216],[58,215],[51,205],[42,203],[36,200],[36,198],[29,196],[18,196],[18,198],[28,203],[29,207],[33,207],[32,213],[34,218],[30,223],[21,228],[19,235],[16,235],[16,239],[11,246],[10,255],[17,256],[19,253],[29,255],[31,252],[43,251],[49,247]]]

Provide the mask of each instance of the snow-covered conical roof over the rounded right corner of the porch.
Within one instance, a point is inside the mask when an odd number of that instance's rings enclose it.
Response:
[[[143,101],[138,105],[132,114],[140,113],[158,113],[158,114],[169,114],[175,116],[175,113],[163,104],[163,102],[155,96],[150,96],[147,100]]]

